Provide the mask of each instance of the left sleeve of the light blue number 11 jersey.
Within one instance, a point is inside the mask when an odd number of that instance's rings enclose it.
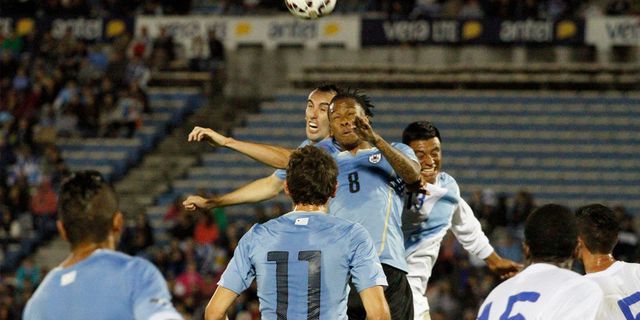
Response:
[[[251,264],[251,238],[253,229],[249,230],[238,243],[233,252],[233,258],[229,261],[227,269],[224,270],[219,286],[223,286],[237,294],[246,290],[256,276],[255,269]]]

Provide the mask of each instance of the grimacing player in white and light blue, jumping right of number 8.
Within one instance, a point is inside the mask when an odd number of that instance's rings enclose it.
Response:
[[[465,250],[483,259],[489,269],[501,276],[508,277],[522,268],[493,250],[480,221],[460,197],[458,183],[441,170],[441,142],[440,131],[428,121],[413,122],[402,133],[402,143],[413,149],[421,166],[421,190],[406,194],[402,214],[407,279],[413,292],[416,320],[430,319],[427,283],[438,259],[440,243],[449,229]]]

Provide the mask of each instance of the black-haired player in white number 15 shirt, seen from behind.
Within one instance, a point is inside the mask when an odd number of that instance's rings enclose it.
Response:
[[[571,210],[542,206],[529,215],[524,228],[528,266],[489,293],[478,320],[598,319],[602,290],[568,270],[578,248],[578,225]]]

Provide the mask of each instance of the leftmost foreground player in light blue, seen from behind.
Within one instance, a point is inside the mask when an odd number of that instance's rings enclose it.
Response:
[[[58,214],[71,253],[35,291],[25,320],[182,319],[158,269],[114,251],[123,217],[100,173],[81,171],[63,182]]]

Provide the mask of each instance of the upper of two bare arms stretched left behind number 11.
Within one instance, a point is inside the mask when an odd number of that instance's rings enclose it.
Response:
[[[246,142],[226,137],[210,128],[195,127],[189,133],[187,141],[207,141],[213,146],[220,146],[238,151],[261,163],[276,169],[285,169],[289,163],[291,150],[268,144]]]

